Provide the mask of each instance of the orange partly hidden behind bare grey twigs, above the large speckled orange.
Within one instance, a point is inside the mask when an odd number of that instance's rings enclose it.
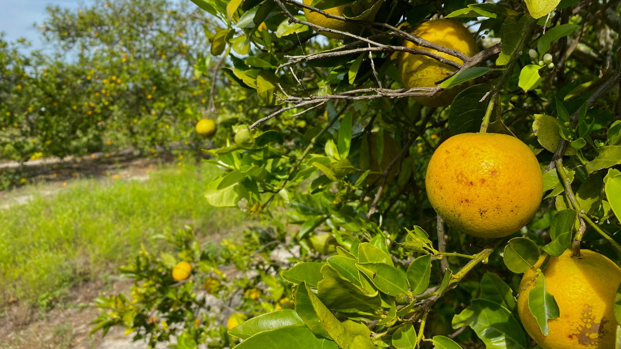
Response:
[[[473,57],[479,52],[479,47],[476,45],[476,41],[474,41],[472,34],[470,34],[468,29],[461,23],[455,22],[454,20],[430,20],[416,27],[412,34],[418,35],[422,37],[422,39],[437,43],[443,47],[458,50],[468,57]],[[448,53],[438,52],[432,48],[421,47],[407,40],[405,46],[417,50],[426,50],[448,60],[460,64],[463,63],[462,60]],[[436,81],[450,76],[456,70],[457,68],[445,63],[440,63],[431,57],[412,55],[407,52],[399,53],[399,73],[401,74],[401,81],[405,88],[435,87]],[[453,102],[453,99],[459,92],[460,88],[456,86],[455,88],[436,93],[432,97],[414,97],[414,99],[424,106],[446,107]]]

